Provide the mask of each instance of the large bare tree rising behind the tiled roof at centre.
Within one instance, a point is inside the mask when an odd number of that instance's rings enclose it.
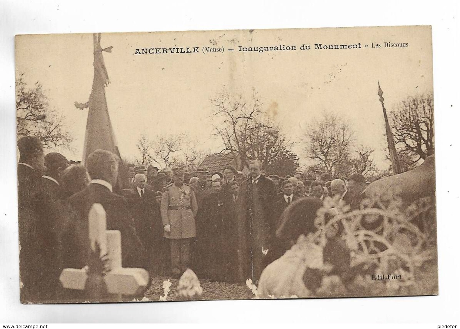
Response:
[[[223,91],[210,102],[215,136],[224,144],[222,153],[239,154],[242,164],[247,159],[259,159],[268,172],[281,170],[280,161],[284,161],[284,169],[297,168],[299,159],[289,151],[291,143],[265,115],[263,103],[254,90],[249,100]]]

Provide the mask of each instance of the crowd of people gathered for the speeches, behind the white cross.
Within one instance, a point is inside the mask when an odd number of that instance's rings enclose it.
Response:
[[[108,151],[92,152],[83,166],[45,154],[32,136],[21,138],[18,149],[22,301],[79,300],[60,287],[59,274],[86,266],[94,203],[106,211],[107,230],[121,232],[123,267],[176,278],[191,268],[199,278],[257,284],[264,268],[289,250],[292,236],[314,230],[311,219],[286,227],[286,208],[307,200],[317,209],[334,195],[358,207],[367,186],[361,174],[266,175],[258,160],[249,162],[247,176],[231,165],[189,172],[128,164],[121,182],[120,159]]]

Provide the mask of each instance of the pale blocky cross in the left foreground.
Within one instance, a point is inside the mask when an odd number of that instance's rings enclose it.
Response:
[[[88,233],[91,249],[94,251],[96,242],[100,247],[101,256],[107,253],[111,270],[104,276],[109,294],[139,295],[149,283],[149,273],[143,268],[121,267],[121,233],[106,231],[106,214],[101,204],[93,204],[88,214]],[[86,269],[64,268],[59,280],[65,289],[84,290],[88,275]],[[115,298],[117,299],[117,298]]]

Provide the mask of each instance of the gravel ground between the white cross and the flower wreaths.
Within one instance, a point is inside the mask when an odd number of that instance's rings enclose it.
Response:
[[[161,296],[165,295],[163,283],[169,280],[171,291],[168,293],[167,301],[182,300],[177,293],[178,279],[171,277],[154,277],[150,288],[145,292],[144,297],[149,301],[159,301]],[[229,300],[229,299],[252,299],[254,295],[246,285],[242,284],[229,284],[224,282],[210,282],[207,279],[200,280],[203,294],[201,300]]]

